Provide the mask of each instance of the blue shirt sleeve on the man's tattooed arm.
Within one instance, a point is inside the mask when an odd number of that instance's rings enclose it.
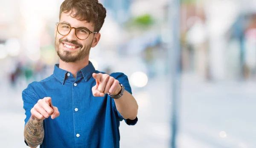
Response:
[[[35,95],[34,92],[25,89],[22,92],[22,100],[23,100],[23,109],[25,109],[25,125],[29,121],[29,118],[31,117],[31,112],[30,110],[34,107],[34,105],[38,101],[37,95]]]

